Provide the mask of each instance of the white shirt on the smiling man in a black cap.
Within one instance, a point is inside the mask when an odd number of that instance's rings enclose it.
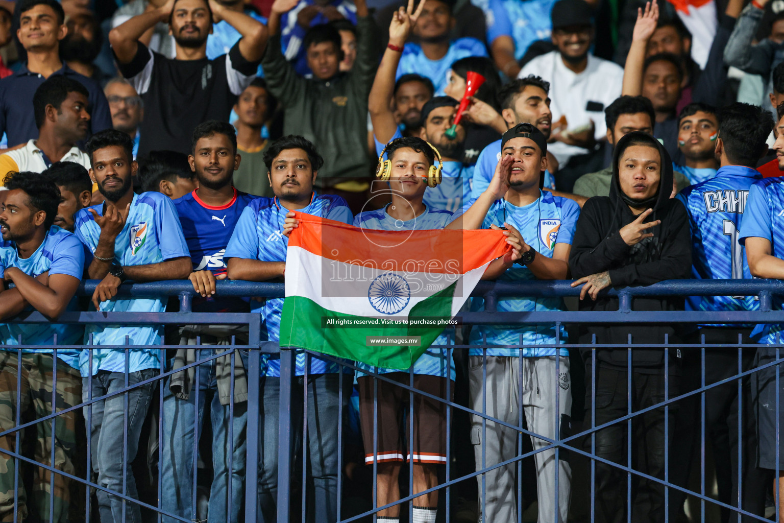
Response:
[[[561,54],[556,50],[537,56],[525,64],[517,78],[525,78],[528,74],[541,76],[543,80],[550,82],[553,125],[565,114],[568,129],[577,129],[593,120],[596,125],[596,140],[607,136],[604,109],[621,96],[622,67],[589,53],[585,71],[575,74],[564,65]],[[550,143],[547,151],[553,153],[561,165],[565,165],[575,154],[588,152],[583,147],[562,142]]]

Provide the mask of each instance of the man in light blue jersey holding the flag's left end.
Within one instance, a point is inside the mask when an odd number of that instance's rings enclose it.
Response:
[[[242,211],[234,234],[231,235],[223,259],[227,260],[229,278],[232,280],[267,281],[285,278],[285,260],[289,245],[289,233],[295,227],[294,212],[323,216],[329,220],[352,223],[354,217],[343,198],[334,194],[318,194],[314,181],[324,160],[313,143],[302,136],[284,136],[270,143],[265,154],[267,178],[275,193],[274,198],[259,198]],[[288,222],[288,223],[286,223]],[[283,298],[267,300],[256,311],[262,312],[264,323],[262,336],[270,341],[280,340]],[[291,325],[286,325],[290,328]],[[263,337],[262,337],[263,339]],[[337,520],[337,478],[341,474],[339,453],[340,401],[345,409],[347,392],[351,387],[350,377],[343,380],[343,394],[339,394],[338,372],[347,368],[334,361],[296,355],[295,373],[298,380],[305,374],[307,387],[292,387],[291,430],[292,434],[302,431],[304,403],[307,393],[307,456],[301,456],[303,469],[307,469],[309,504],[308,521]],[[256,369],[254,369],[255,371]],[[259,434],[259,505],[260,521],[276,521],[278,506],[278,420],[289,416],[279,412],[281,361],[280,358],[265,358],[261,369],[263,391],[263,420]],[[350,371],[349,371],[350,372]],[[296,407],[299,406],[299,412]],[[312,430],[318,427],[318,430]],[[300,436],[300,438],[303,436]],[[252,464],[248,464],[252,467]],[[314,518],[314,514],[318,517]],[[306,514],[303,514],[303,518]],[[313,518],[313,519],[311,519]]]

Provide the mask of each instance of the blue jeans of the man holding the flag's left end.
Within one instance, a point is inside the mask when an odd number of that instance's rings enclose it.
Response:
[[[280,378],[262,377],[263,399],[259,428],[259,521],[277,521],[278,508],[278,420],[280,419]],[[352,376],[343,376],[343,416],[347,414]],[[307,383],[307,452],[303,467],[307,474],[307,521],[337,521],[339,380],[337,374],[313,374]],[[302,449],[304,379],[295,376],[292,386],[291,422],[293,455]]]

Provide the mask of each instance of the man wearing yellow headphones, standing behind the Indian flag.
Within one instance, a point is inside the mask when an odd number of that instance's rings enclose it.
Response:
[[[361,212],[354,218],[354,226],[360,227],[363,231],[433,231],[443,229],[452,222],[452,212],[431,209],[423,202],[427,188],[427,173],[435,162],[434,149],[425,140],[412,136],[393,140],[387,145],[386,150],[390,162],[391,202],[383,209]],[[521,238],[511,231],[506,234],[508,234],[506,242],[513,248],[506,253],[506,258],[511,262],[520,258]],[[405,244],[395,247],[405,249]],[[492,262],[485,275],[503,274],[503,269],[499,271],[501,266],[503,266],[503,258]],[[447,328],[433,344],[454,343],[454,336],[455,329]],[[398,369],[375,367],[361,362],[357,365],[400,383],[408,384],[411,379],[408,372],[401,372]],[[358,373],[365,463],[368,465],[372,465],[374,461],[377,463],[376,507],[382,507],[400,499],[397,478],[404,459],[413,463],[414,492],[422,492],[437,485],[436,466],[444,465],[449,459],[446,453],[447,405],[445,402],[435,401],[415,393],[414,405],[409,407],[414,411],[413,427],[408,428],[413,431],[411,434],[398,423],[401,412],[408,404],[408,391],[394,383],[378,380],[374,393],[373,380],[372,376]],[[448,398],[447,390],[450,390],[449,396],[451,396],[454,383],[448,384],[447,380],[455,380],[455,365],[446,349],[429,348],[413,365],[413,387],[416,390],[422,390],[438,398]],[[377,419],[376,438],[373,436],[374,410]],[[413,437],[414,447],[408,449],[406,455],[405,449],[411,437]],[[413,521],[423,521],[423,523],[436,521],[437,502],[438,491],[415,498]],[[399,514],[400,506],[396,505],[379,510],[377,520],[379,523],[397,523],[400,521]]]

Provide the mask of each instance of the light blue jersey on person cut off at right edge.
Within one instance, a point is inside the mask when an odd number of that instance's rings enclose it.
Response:
[[[765,238],[771,242],[771,254],[784,260],[784,178],[763,178],[750,187],[740,223],[741,245],[746,245],[746,238]],[[781,311],[782,304],[781,296],[773,296],[775,311]],[[778,343],[784,340],[782,330],[779,324],[757,325],[753,334],[761,335],[759,343]]]

